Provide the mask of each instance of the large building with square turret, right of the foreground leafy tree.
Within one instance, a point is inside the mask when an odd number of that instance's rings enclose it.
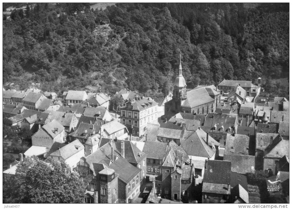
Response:
[[[140,194],[140,169],[122,157],[112,140],[81,158],[77,171],[88,182],[87,202],[131,203]]]

